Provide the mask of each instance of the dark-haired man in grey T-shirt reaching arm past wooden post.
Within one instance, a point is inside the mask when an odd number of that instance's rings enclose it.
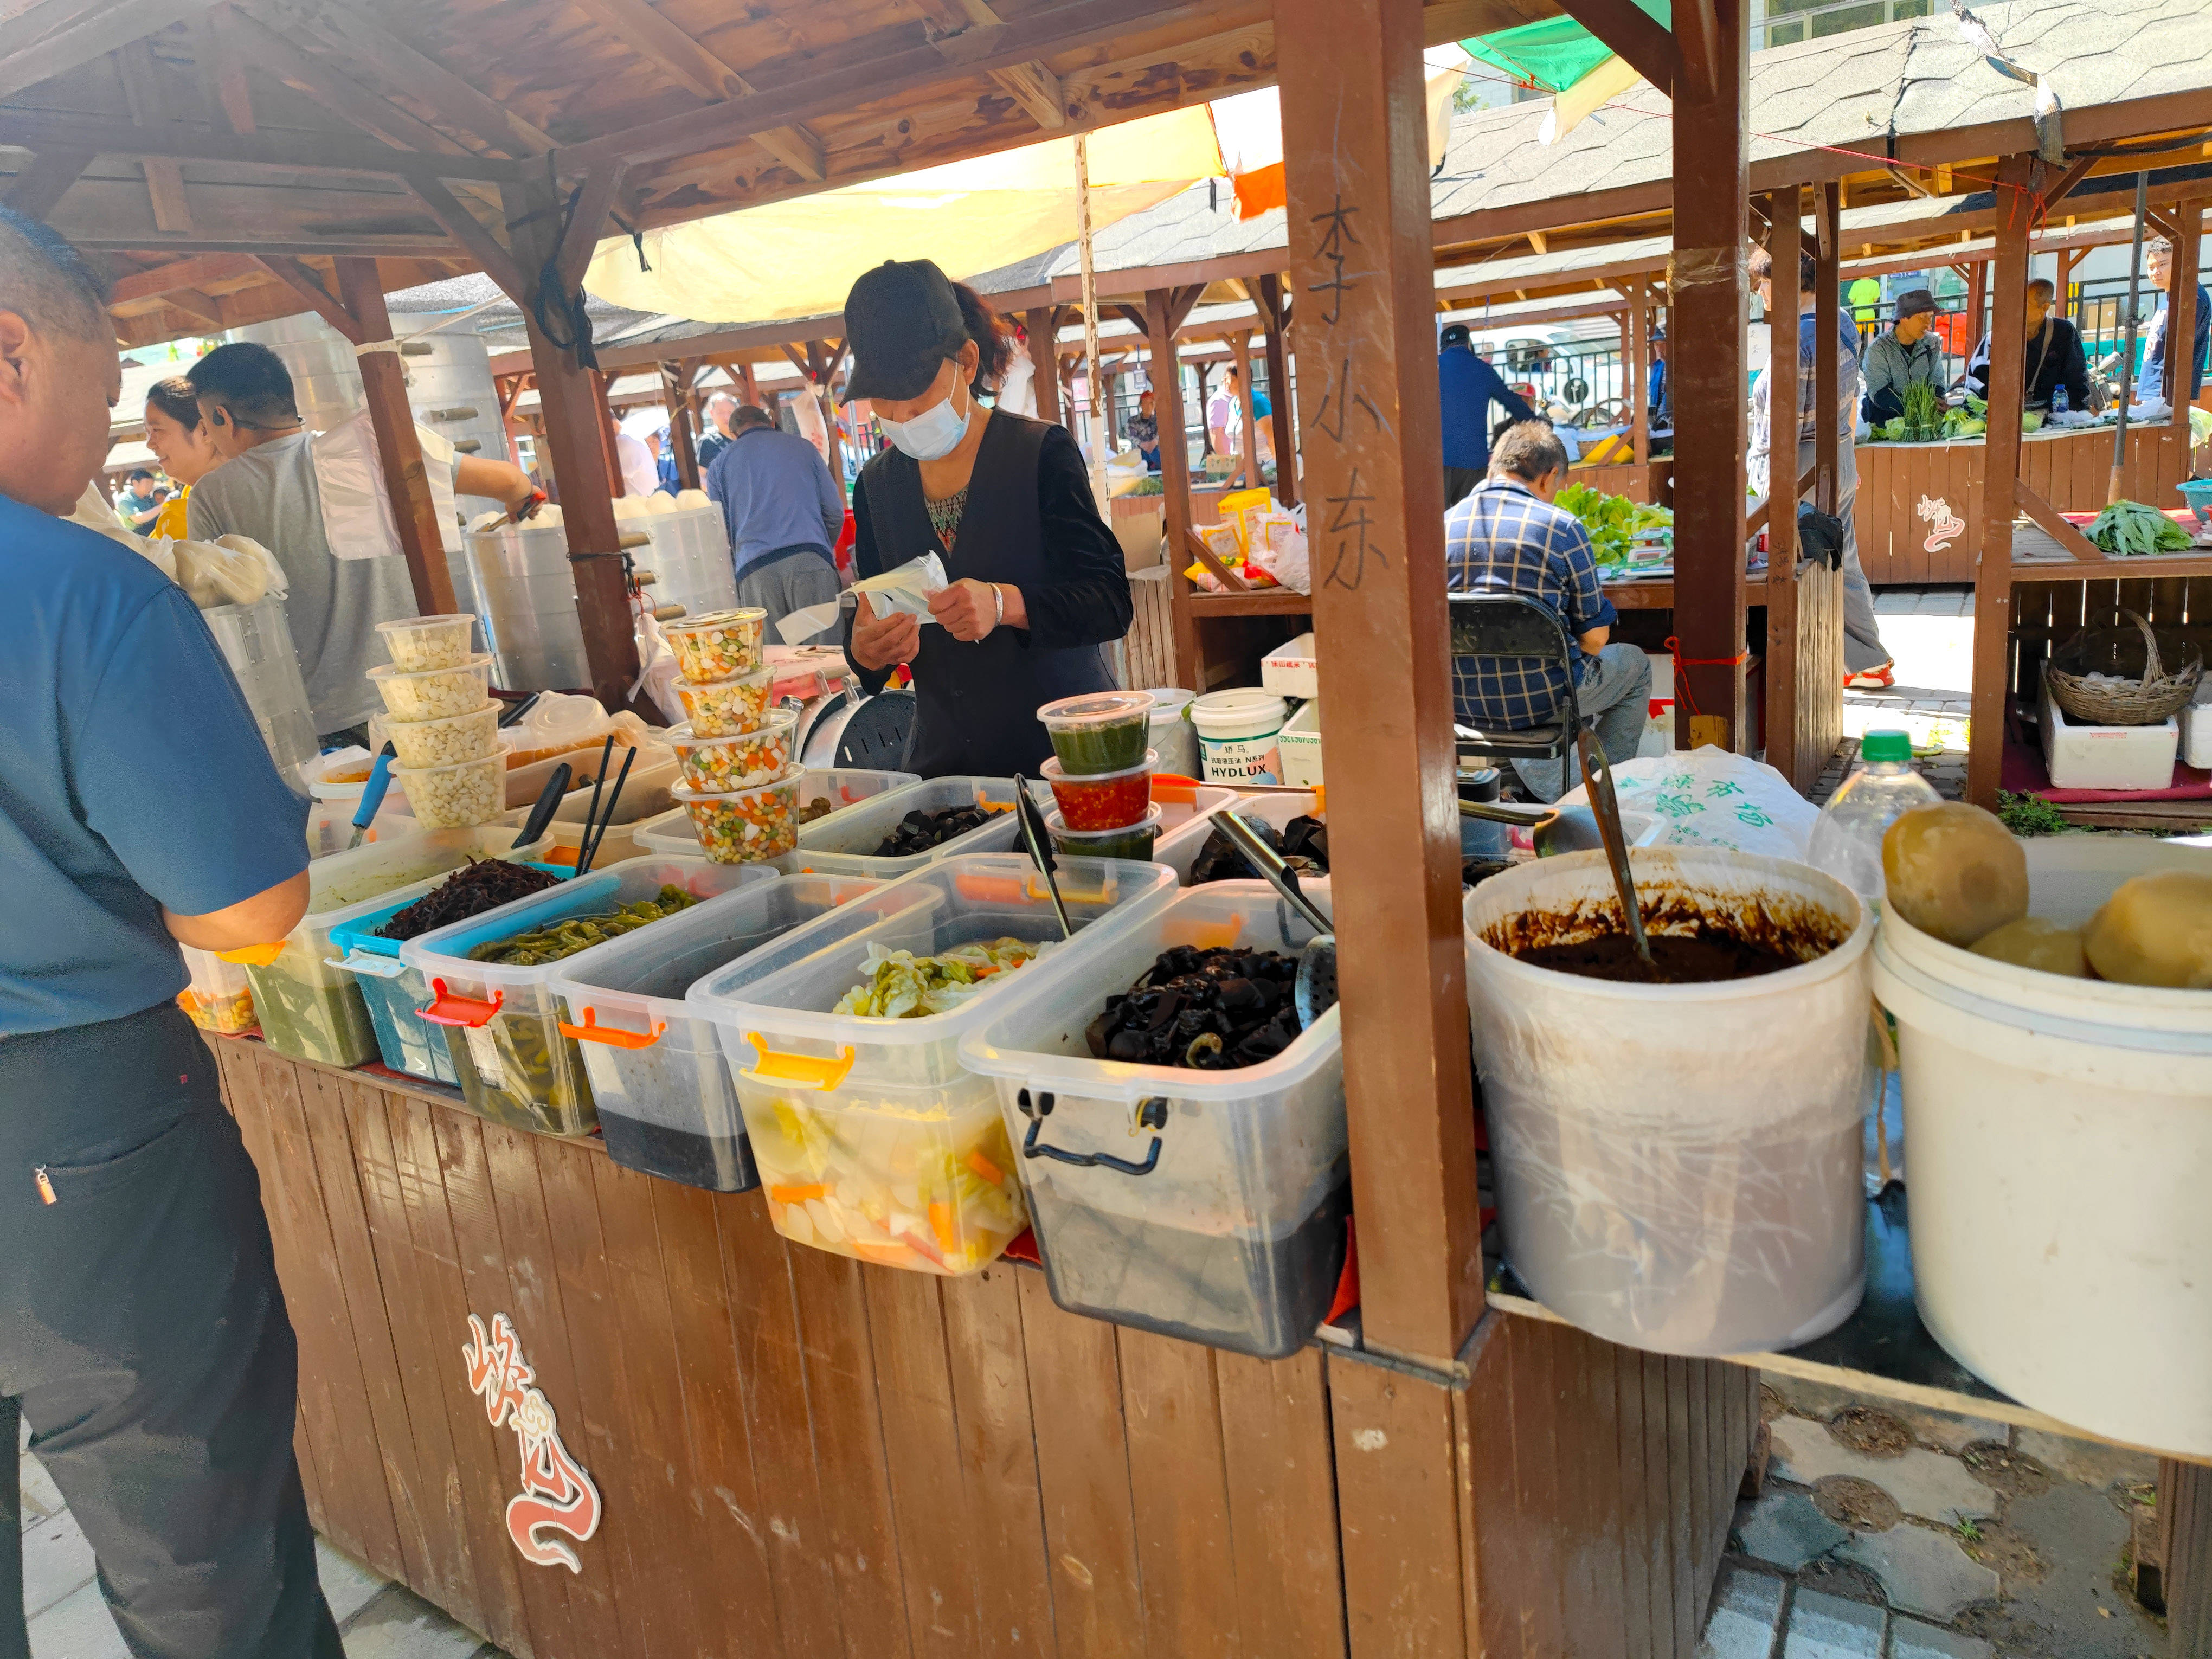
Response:
[[[325,748],[361,743],[378,708],[367,672],[389,661],[376,624],[416,615],[407,560],[341,560],[330,551],[314,442],[292,400],[292,376],[272,349],[217,345],[186,380],[199,394],[208,445],[223,458],[192,489],[192,538],[250,535],[276,555],[314,730]],[[453,491],[495,500],[511,518],[526,518],[542,500],[520,467],[480,456],[453,456]]]

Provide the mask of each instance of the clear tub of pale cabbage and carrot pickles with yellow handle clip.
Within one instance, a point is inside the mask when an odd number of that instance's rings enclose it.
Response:
[[[1064,858],[1077,931],[1062,942],[1029,858],[945,858],[692,984],[776,1232],[914,1272],[995,1261],[1026,1210],[998,1095],[960,1064],[960,1037],[1040,960],[1095,951],[1172,887],[1159,865]]]

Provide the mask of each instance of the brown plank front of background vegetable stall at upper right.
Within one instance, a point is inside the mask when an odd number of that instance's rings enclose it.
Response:
[[[1982,445],[1860,445],[1858,562],[1876,586],[1973,582],[1982,551]],[[2128,500],[2179,507],[2174,484],[2188,478],[2188,449],[2172,427],[2132,427],[2121,489]],[[2095,513],[2112,480],[2112,434],[2037,438],[2020,445],[2020,478],[2062,513]],[[1964,520],[1947,546],[1929,551],[1922,498],[1942,500]]]

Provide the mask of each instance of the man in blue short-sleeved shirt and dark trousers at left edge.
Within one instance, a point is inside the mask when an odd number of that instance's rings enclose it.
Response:
[[[338,1659],[261,1190],[175,1004],[179,940],[299,922],[307,805],[184,591],[58,518],[119,380],[97,276],[0,208],[0,1438],[139,1659]]]

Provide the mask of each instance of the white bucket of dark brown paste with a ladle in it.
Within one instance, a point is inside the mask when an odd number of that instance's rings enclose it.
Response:
[[[1467,896],[1506,1259],[1548,1310],[1613,1343],[1690,1356],[1807,1343],[1865,1290],[1871,922],[1849,887],[1781,858],[1630,858],[1661,964],[1734,938],[1763,971],[1648,984],[1540,964],[1619,936],[1597,852]]]

